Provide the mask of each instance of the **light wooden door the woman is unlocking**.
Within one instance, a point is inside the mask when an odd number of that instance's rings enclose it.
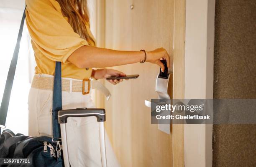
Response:
[[[131,6],[133,5],[133,7]],[[164,47],[173,55],[174,0],[106,0],[105,47],[147,51]],[[171,167],[172,134],[151,124],[145,99],[156,99],[159,66],[135,63],[115,67],[137,79],[116,86],[105,82],[112,97],[105,101],[105,127],[121,167]]]

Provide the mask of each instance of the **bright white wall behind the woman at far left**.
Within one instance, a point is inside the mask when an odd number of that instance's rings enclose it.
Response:
[[[5,80],[7,77],[10,61],[13,56],[15,43],[25,7],[24,0],[1,0],[0,1],[0,98],[2,99]],[[14,133],[28,134],[28,92],[30,77],[33,73],[34,61],[30,59],[30,37],[26,29],[20,43],[20,54],[13,83],[10,99],[6,129]],[[33,52],[32,52],[33,54]],[[33,57],[33,55],[32,55]]]

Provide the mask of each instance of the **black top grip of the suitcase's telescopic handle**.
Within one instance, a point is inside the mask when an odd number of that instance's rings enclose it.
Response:
[[[60,110],[58,112],[59,124],[66,124],[68,117],[86,117],[86,116],[96,116],[98,122],[104,122],[106,120],[105,109],[87,109],[87,108],[77,108]]]

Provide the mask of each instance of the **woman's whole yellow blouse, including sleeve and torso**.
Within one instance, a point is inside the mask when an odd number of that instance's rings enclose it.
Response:
[[[74,32],[68,18],[62,15],[59,3],[56,0],[26,0],[26,5],[26,23],[32,38],[36,74],[54,75],[55,61],[61,61],[62,77],[90,78],[91,68],[77,68],[67,61],[75,50],[89,44]],[[89,26],[86,26],[93,38]]]

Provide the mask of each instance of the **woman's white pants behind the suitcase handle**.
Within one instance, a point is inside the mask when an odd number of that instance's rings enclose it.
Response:
[[[53,91],[31,88],[28,98],[30,136],[52,137],[52,97]],[[90,94],[62,91],[63,109],[79,107],[95,108]],[[101,167],[99,124],[95,116],[68,118],[67,142],[72,167]],[[108,167],[120,167],[106,132],[105,143]]]

